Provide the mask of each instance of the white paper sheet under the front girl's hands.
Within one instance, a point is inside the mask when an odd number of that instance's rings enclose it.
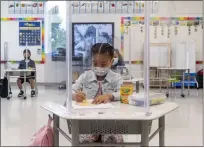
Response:
[[[90,104],[93,100],[87,100]],[[96,105],[88,105],[88,106],[80,106],[75,101],[72,102],[73,109],[106,109],[106,108],[114,108],[111,103],[106,104],[96,104]]]

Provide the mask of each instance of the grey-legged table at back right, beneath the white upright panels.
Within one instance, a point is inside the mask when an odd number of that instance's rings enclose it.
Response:
[[[168,71],[168,76],[169,76],[170,71],[182,71],[182,73],[183,73],[183,76],[182,76],[182,79],[183,79],[182,80],[182,89],[181,89],[181,96],[182,97],[185,97],[183,91],[184,91],[185,73],[187,71],[187,73],[188,73],[188,95],[190,95],[190,69],[189,68],[173,68],[173,67],[171,67],[171,68],[157,68],[157,70],[158,71],[159,70],[160,71],[162,71],[162,70]],[[168,96],[168,94],[169,94],[169,87],[167,86],[167,96]]]

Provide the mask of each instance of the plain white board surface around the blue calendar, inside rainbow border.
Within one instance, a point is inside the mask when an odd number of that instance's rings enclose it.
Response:
[[[41,22],[41,21],[40,21]],[[42,22],[41,22],[42,27]],[[41,35],[42,40],[42,35]],[[4,57],[4,43],[8,42],[8,60],[20,61],[23,59],[23,50],[25,46],[19,46],[19,21],[1,21],[1,60],[5,60]],[[31,58],[35,61],[42,60],[42,54],[38,52],[38,49],[42,51],[42,46],[28,46],[31,51]]]

